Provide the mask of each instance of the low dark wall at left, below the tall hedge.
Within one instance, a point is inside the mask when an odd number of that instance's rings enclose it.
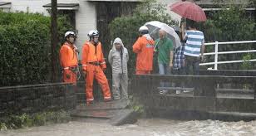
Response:
[[[0,116],[74,109],[74,85],[65,83],[0,87]]]

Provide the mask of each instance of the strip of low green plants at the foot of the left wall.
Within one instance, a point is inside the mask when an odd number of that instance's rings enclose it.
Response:
[[[36,114],[11,115],[0,119],[0,130],[20,129],[45,124],[56,124],[68,122],[71,120],[70,115],[63,110],[48,111]]]

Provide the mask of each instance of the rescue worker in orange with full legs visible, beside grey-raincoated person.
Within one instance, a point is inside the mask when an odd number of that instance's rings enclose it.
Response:
[[[82,47],[81,64],[83,73],[86,75],[86,104],[93,103],[93,79],[101,85],[104,101],[111,100],[111,91],[103,71],[106,70],[106,62],[102,53],[99,32],[92,30],[88,33],[90,41],[86,41]]]

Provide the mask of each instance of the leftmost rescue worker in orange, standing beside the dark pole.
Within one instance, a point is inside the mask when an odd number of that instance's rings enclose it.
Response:
[[[63,68],[63,81],[76,83],[78,63],[77,63],[77,48],[74,45],[76,41],[75,32],[65,33],[65,42],[60,50],[60,61]]]

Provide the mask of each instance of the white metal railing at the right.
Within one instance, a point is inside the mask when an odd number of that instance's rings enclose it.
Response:
[[[204,56],[214,55],[214,62],[200,63],[199,66],[210,66],[214,65],[214,70],[218,70],[218,64],[227,64],[227,63],[239,63],[244,62],[244,60],[239,61],[218,61],[218,56],[223,54],[235,54],[235,53],[251,53],[256,52],[256,50],[248,50],[248,51],[221,51],[219,52],[219,45],[228,45],[228,44],[243,44],[243,43],[256,43],[256,41],[228,41],[228,42],[209,42],[205,43],[205,46],[215,45],[214,52],[204,53]],[[248,60],[248,61],[256,61],[256,59]]]

